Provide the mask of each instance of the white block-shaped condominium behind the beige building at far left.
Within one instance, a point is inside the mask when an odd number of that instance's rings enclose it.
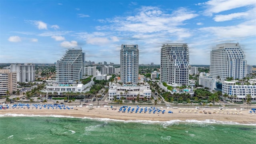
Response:
[[[12,72],[17,73],[17,82],[34,82],[35,65],[34,64],[11,64],[9,66]]]

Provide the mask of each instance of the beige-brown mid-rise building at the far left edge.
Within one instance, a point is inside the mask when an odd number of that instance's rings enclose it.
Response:
[[[0,69],[0,96],[6,95],[7,91],[10,94],[17,91],[17,73]]]

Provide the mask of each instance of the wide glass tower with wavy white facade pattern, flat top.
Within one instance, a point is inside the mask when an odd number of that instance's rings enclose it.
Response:
[[[188,85],[189,51],[187,44],[163,44],[161,48],[160,80],[166,84]]]

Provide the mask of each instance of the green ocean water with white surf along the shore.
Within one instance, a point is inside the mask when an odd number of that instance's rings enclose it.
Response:
[[[255,144],[256,124],[0,115],[0,144]]]

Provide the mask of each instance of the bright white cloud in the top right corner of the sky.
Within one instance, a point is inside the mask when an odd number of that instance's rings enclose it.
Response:
[[[205,6],[205,15],[212,16],[219,12],[226,10],[232,10],[234,8],[240,8],[244,6],[255,6],[256,0],[209,0],[208,2],[198,3],[200,6]]]

